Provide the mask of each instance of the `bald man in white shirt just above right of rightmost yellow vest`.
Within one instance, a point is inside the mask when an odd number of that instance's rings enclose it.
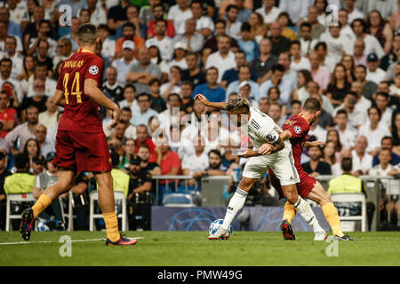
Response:
[[[367,170],[372,168],[373,157],[368,154],[365,150],[368,146],[368,139],[364,136],[358,136],[356,138],[356,146],[351,155],[353,157],[353,175],[356,177],[366,174]]]

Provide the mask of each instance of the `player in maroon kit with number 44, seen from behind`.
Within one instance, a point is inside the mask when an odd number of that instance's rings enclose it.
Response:
[[[22,212],[20,233],[25,241],[29,241],[35,218],[60,194],[68,192],[74,185],[76,174],[92,171],[98,185],[99,206],[106,224],[106,245],[136,243],[136,240],[124,238],[118,233],[113,178],[110,172],[111,157],[98,107],[104,106],[112,111],[111,127],[118,124],[120,110],[116,103],[100,91],[104,61],[94,54],[99,41],[94,25],[82,25],[77,36],[80,49],[62,64],[54,96],[57,103],[64,106],[64,114],[56,136],[56,157],[52,161],[59,168],[59,180],[44,191],[31,209]]]

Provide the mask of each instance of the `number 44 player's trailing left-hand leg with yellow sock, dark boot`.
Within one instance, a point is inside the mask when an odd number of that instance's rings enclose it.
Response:
[[[72,170],[60,170],[59,180],[49,186],[44,193],[37,199],[32,208],[25,209],[21,215],[20,221],[20,234],[22,239],[29,241],[30,233],[35,225],[35,219],[52,204],[52,201],[60,196],[62,193],[68,192],[74,183],[75,172]]]

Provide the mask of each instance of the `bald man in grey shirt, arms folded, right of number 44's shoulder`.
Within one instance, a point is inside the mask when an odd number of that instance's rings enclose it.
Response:
[[[136,44],[135,44],[136,46]],[[148,48],[142,47],[138,53],[138,62],[134,62],[126,75],[126,81],[133,83],[138,93],[150,92],[148,83],[151,79],[161,79],[161,70],[150,61]]]

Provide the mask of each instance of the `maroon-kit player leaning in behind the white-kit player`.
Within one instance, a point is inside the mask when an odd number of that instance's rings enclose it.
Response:
[[[335,239],[340,241],[352,241],[348,235],[345,235],[340,228],[340,218],[338,210],[332,203],[332,200],[328,193],[325,192],[324,187],[316,180],[305,172],[300,164],[300,157],[303,150],[303,146],[322,146],[323,142],[314,141],[307,142],[308,130],[310,125],[316,121],[316,118],[321,113],[321,105],[317,99],[308,98],[304,106],[301,107],[301,113],[298,115],[292,115],[282,125],[284,130],[279,136],[284,140],[289,138],[292,144],[292,153],[295,162],[296,170],[300,176],[300,183],[296,185],[299,195],[302,198],[308,198],[312,201],[316,201],[324,212],[324,216],[331,226],[332,233]],[[284,194],[279,183],[272,170],[268,170],[268,176],[271,184],[276,188],[279,193],[279,197],[283,198]],[[292,219],[296,215],[296,209],[293,205],[286,201],[284,205],[284,218],[281,224],[281,230],[284,234],[285,240],[294,240],[295,236],[292,232]]]

